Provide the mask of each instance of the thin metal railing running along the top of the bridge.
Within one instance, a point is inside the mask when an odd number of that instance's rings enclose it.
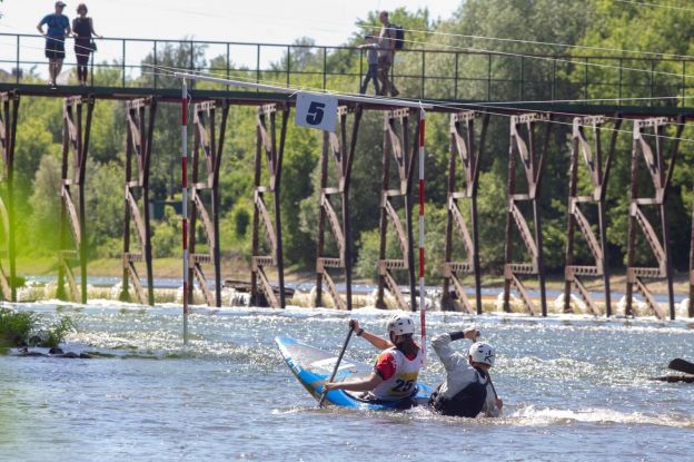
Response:
[[[0,33],[0,71],[4,71],[0,81],[44,85],[44,40]],[[177,88],[179,82],[169,71],[185,69],[293,88],[358,92],[368,68],[366,50],[353,47],[131,38],[98,39],[96,45],[88,80],[95,87]],[[77,83],[70,72],[76,65],[73,40],[68,39],[59,83]],[[684,58],[405,49],[396,53],[391,79],[401,96],[423,99],[645,98],[638,105],[682,106],[682,98],[694,94],[688,69],[694,72],[692,60]],[[371,85],[367,91],[374,91]]]

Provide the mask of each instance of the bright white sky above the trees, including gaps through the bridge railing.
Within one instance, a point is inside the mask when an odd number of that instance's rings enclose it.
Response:
[[[63,11],[70,19],[77,16],[79,1],[63,0]],[[95,30],[106,40],[97,42],[95,60],[122,62],[123,43],[118,38],[170,39],[194,38],[200,41],[231,41],[249,43],[293,43],[310,37],[319,46],[338,46],[359,32],[359,19],[369,11],[393,10],[406,6],[409,11],[428,8],[429,17],[448,19],[463,0],[91,0],[86,1]],[[19,60],[22,68],[34,67],[46,76],[43,39],[36,29],[38,22],[54,11],[53,0],[2,0],[0,2],[0,69],[10,71]],[[4,35],[32,35],[16,37]],[[153,48],[149,42],[127,42],[126,65],[132,66],[130,76]],[[73,62],[69,42],[66,67]],[[262,47],[260,66],[278,61],[286,48]],[[226,55],[226,46],[209,46],[207,57]],[[234,46],[230,59],[237,66],[254,69],[258,63],[256,47]],[[36,65],[36,66],[34,66]],[[63,70],[65,70],[63,69]],[[67,78],[67,76],[63,76]],[[60,78],[59,78],[60,81]]]

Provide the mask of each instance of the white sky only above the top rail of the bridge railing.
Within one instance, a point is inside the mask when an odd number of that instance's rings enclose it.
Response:
[[[65,0],[72,19],[78,1]],[[447,19],[462,0],[91,0],[95,29],[105,37],[279,42],[308,36],[317,45],[340,45],[369,11],[405,6],[428,8],[433,19]],[[34,33],[53,11],[51,0],[3,0],[0,32]]]

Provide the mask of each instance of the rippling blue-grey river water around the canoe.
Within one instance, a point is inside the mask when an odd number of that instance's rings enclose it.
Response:
[[[429,335],[475,322],[497,348],[500,419],[318,410],[275,346],[289,335],[338,352],[348,314],[331,309],[198,307],[184,348],[180,307],[113,302],[14,305],[70,315],[66,350],[113,357],[0,356],[1,461],[637,461],[687,460],[694,384],[666,374],[694,360],[687,321],[470,317],[427,313]],[[390,313],[353,316],[381,332]],[[457,342],[459,348],[467,341]],[[454,344],[455,345],[455,344]],[[376,351],[353,337],[347,356]],[[443,368],[429,348],[420,379]]]

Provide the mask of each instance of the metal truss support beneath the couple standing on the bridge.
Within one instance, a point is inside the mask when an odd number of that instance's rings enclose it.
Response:
[[[85,174],[95,99],[66,98],[62,108],[62,173],[58,298],[87,303],[87,234],[85,226]],[[86,108],[85,108],[86,107]],[[85,119],[86,109],[86,121]],[[83,124],[82,124],[83,122]],[[71,154],[71,155],[70,155]],[[75,197],[77,195],[77,198]],[[77,203],[76,203],[77,199]],[[71,236],[71,238],[70,238]],[[80,287],[73,266],[80,267]],[[69,295],[65,283],[68,283]]]

